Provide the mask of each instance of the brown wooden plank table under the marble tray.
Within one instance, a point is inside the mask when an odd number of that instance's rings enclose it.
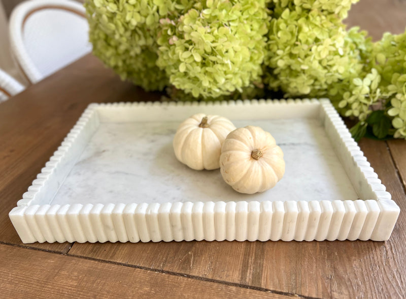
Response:
[[[361,1],[348,22],[401,32],[406,5]],[[8,213],[88,103],[154,99],[87,55],[0,105],[0,297],[406,295],[404,140],[360,142],[402,211],[387,242],[22,244]]]

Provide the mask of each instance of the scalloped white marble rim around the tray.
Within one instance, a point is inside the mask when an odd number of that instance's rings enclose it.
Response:
[[[85,126],[97,126],[99,107],[320,105],[319,117],[347,173],[361,177],[367,200],[238,201],[130,204],[32,204],[63,163]],[[96,119],[96,121],[95,121]],[[351,177],[352,178],[352,177]],[[355,186],[354,186],[355,187]],[[160,241],[323,241],[390,237],[400,209],[386,192],[328,99],[238,100],[222,102],[137,102],[90,104],[32,182],[10,219],[23,243]]]

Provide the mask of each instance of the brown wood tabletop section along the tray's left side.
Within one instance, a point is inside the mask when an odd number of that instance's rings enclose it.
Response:
[[[78,78],[80,78],[78,80]],[[1,104],[0,108],[0,243],[21,243],[8,213],[90,102],[158,100],[124,83],[112,70],[87,55]],[[28,247],[66,252],[65,244]]]

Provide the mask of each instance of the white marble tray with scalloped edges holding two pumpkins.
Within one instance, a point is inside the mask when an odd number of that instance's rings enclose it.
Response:
[[[175,158],[194,113],[273,134],[286,172],[240,194]],[[323,100],[91,104],[10,219],[23,243],[388,240],[399,207]]]

